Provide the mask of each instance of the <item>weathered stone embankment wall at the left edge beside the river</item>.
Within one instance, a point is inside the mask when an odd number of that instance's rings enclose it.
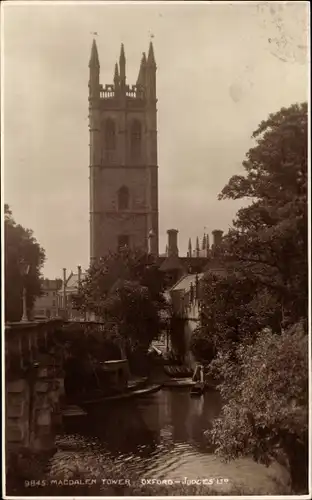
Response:
[[[53,342],[57,322],[19,323],[5,329],[6,466],[23,451],[50,451],[61,423],[64,375]]]

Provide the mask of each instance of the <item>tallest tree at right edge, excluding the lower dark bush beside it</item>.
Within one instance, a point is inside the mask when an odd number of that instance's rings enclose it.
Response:
[[[253,133],[256,145],[220,199],[249,198],[238,211],[223,253],[239,275],[257,282],[288,323],[307,317],[307,104],[282,108]]]

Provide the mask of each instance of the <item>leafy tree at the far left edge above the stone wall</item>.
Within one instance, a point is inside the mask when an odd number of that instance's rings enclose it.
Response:
[[[37,243],[30,229],[16,224],[8,205],[4,208],[5,245],[5,319],[20,321],[22,316],[23,288],[30,314],[36,297],[41,295],[40,271],[45,260],[44,250]],[[24,275],[22,263],[29,265]]]

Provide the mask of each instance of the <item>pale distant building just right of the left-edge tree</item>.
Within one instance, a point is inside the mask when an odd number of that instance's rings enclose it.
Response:
[[[58,316],[58,291],[62,287],[62,280],[42,280],[42,295],[37,297],[33,307],[34,319],[52,319]]]

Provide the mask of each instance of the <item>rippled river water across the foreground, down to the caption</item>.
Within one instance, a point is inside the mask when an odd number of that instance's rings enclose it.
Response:
[[[185,389],[162,389],[97,407],[76,423],[64,424],[49,476],[94,479],[99,494],[99,485],[118,478],[141,486],[148,480],[171,486],[200,479],[225,494],[235,487],[247,494],[277,493],[276,482],[287,482],[277,464],[266,468],[251,459],[224,463],[213,453],[204,431],[220,408],[217,392],[191,398]]]

